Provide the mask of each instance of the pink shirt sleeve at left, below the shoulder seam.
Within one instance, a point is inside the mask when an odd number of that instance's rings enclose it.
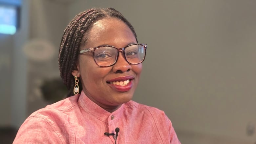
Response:
[[[13,144],[65,143],[61,135],[53,129],[49,120],[31,116],[21,125]]]

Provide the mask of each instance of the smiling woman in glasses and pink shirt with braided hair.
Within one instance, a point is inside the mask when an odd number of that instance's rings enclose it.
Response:
[[[13,143],[179,144],[164,112],[131,100],[146,49],[117,10],[77,14],[59,50],[70,97],[32,113]]]

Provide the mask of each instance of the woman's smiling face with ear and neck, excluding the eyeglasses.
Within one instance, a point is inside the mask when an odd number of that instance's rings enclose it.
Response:
[[[87,42],[80,50],[111,45],[117,48],[137,43],[130,28],[116,18],[98,20],[87,35]],[[91,52],[79,55],[77,70],[72,74],[80,77],[84,93],[96,104],[109,112],[130,101],[139,83],[142,64],[130,65],[119,53],[117,63],[110,67],[99,67]],[[125,84],[127,83],[128,84]],[[117,85],[119,83],[119,85]],[[120,85],[124,83],[124,85]]]

